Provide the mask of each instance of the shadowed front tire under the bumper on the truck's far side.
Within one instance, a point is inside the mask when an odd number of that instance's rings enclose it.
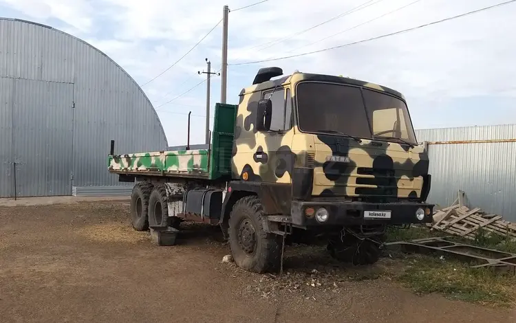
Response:
[[[364,240],[347,234],[343,240],[335,239],[328,243],[327,250],[333,258],[353,265],[372,265],[380,258],[385,234],[367,237]]]

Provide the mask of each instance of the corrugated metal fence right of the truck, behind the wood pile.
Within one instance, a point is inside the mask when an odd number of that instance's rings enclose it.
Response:
[[[429,201],[453,203],[458,190],[466,205],[516,221],[516,124],[420,129],[432,175]]]

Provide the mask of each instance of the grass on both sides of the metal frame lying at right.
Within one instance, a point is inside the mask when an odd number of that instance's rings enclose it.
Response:
[[[491,234],[480,228],[475,232],[475,240],[451,236],[445,232],[430,231],[425,226],[413,226],[409,229],[390,227],[387,241],[410,241],[418,238],[447,236],[447,240],[465,245],[475,245],[501,252],[516,254],[516,241],[510,236]],[[393,254],[402,264],[387,271],[387,275],[398,280],[416,293],[440,293],[453,300],[462,300],[479,304],[510,306],[516,300],[516,276],[498,274],[489,268],[471,268],[471,264],[438,256],[419,254]]]

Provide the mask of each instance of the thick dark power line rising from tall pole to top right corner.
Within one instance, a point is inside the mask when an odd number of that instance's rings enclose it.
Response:
[[[470,12],[466,12],[464,14],[458,14],[457,16],[451,16],[451,17],[444,18],[444,19],[441,19],[441,20],[438,20],[438,21],[433,21],[431,23],[425,23],[424,25],[419,25],[417,27],[411,27],[411,28],[408,28],[408,29],[405,29],[405,30],[399,30],[398,32],[391,32],[389,34],[383,34],[383,35],[380,35],[380,36],[363,39],[361,41],[354,41],[353,43],[347,43],[347,44],[338,45],[338,46],[334,46],[334,47],[314,50],[313,52],[306,52],[306,53],[302,53],[302,54],[283,56],[283,57],[278,57],[278,58],[268,58],[268,59],[265,59],[265,60],[255,60],[255,61],[252,61],[252,62],[235,63],[235,64],[228,64],[228,65],[229,66],[250,65],[250,64],[257,64],[257,63],[272,62],[273,60],[284,60],[284,59],[288,59],[288,58],[294,58],[294,57],[299,57],[299,56],[306,56],[306,55],[310,55],[310,54],[326,52],[326,51],[331,50],[331,49],[337,49],[337,48],[347,47],[347,46],[351,46],[351,45],[357,45],[357,44],[360,44],[360,43],[367,43],[368,41],[376,41],[377,39],[380,39],[380,38],[394,36],[394,35],[402,34],[402,33],[405,33],[405,32],[411,32],[413,30],[417,30],[417,29],[422,28],[422,27],[428,27],[429,25],[436,25],[436,24],[442,23],[444,21],[451,21],[453,19],[462,18],[463,16],[468,16],[469,14],[475,14],[477,12],[482,12],[484,10],[492,9],[492,8],[499,7],[499,6],[502,6],[502,5],[506,5],[506,4],[509,4],[509,3],[513,3],[515,1],[516,0],[510,0],[510,1],[505,1],[505,2],[502,2],[502,3],[497,3],[497,4],[491,5],[489,7],[481,8],[481,9],[478,9],[478,10],[473,10],[473,11],[470,11]]]

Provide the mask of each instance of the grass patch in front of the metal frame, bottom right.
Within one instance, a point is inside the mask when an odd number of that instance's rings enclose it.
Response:
[[[491,269],[473,269],[455,260],[430,256],[409,256],[395,280],[416,293],[441,293],[453,300],[510,306],[515,300],[516,276]]]

